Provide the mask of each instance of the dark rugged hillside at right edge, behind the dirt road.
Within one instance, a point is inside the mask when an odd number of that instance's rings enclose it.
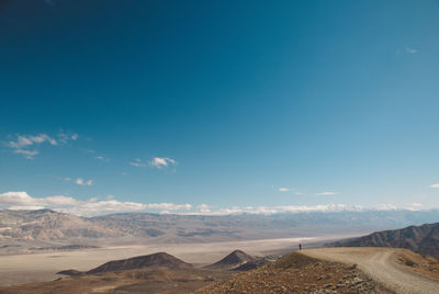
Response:
[[[439,258],[439,223],[383,230],[328,244],[328,247],[394,247]]]

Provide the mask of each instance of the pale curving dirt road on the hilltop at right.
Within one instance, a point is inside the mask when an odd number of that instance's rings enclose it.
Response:
[[[370,278],[396,293],[439,293],[439,281],[415,273],[396,262],[394,248],[322,248],[303,250],[309,257],[357,263]]]

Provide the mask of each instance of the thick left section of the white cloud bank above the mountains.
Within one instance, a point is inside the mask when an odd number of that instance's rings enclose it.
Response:
[[[32,197],[26,192],[7,192],[0,194],[0,206],[9,210],[42,210],[52,208],[76,215],[97,215],[103,212],[130,212],[142,210],[167,210],[181,211],[190,210],[190,204],[144,204],[136,202],[121,202],[109,195],[104,201],[92,197],[86,201],[76,200],[70,196],[55,195],[47,197]]]

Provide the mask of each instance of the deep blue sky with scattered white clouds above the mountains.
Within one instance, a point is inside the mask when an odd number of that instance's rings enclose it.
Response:
[[[0,1],[0,206],[439,207],[439,1]]]

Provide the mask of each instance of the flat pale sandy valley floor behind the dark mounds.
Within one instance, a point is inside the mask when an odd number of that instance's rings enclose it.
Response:
[[[348,236],[326,236],[314,238],[284,238],[214,244],[145,245],[85,249],[61,252],[0,256],[0,285],[14,285],[31,282],[52,281],[56,272],[67,269],[90,270],[106,261],[124,259],[155,252],[168,252],[194,264],[213,263],[235,249],[250,255],[267,256],[286,253],[304,246],[322,244]]]

